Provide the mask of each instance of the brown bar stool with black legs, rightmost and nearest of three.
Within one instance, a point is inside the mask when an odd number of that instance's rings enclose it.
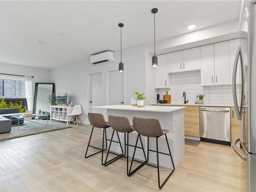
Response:
[[[134,153],[133,153],[133,158],[132,158],[132,162],[131,162],[131,166],[130,166],[130,170],[129,170],[129,176],[132,176],[134,173],[136,173],[145,164],[153,166],[153,167],[157,168],[158,187],[161,189],[163,187],[163,185],[167,182],[167,180],[170,178],[170,176],[172,176],[172,174],[175,171],[173,157],[172,157],[172,154],[170,153],[170,147],[169,147],[168,139],[167,139],[167,136],[166,136],[166,134],[169,131],[168,130],[162,130],[158,119],[154,119],[154,118],[133,117],[133,128],[138,133],[138,136],[137,136],[135,149],[134,149]],[[133,161],[134,161],[134,156],[135,156],[135,152],[136,152],[136,147],[137,147],[137,144],[138,144],[138,138],[140,137],[140,135],[142,135],[144,137],[147,137],[147,160],[148,160],[149,151],[157,153],[157,166],[152,165],[152,164],[147,164],[147,162],[146,163],[141,163],[139,166],[137,166],[131,172]],[[165,139],[166,139],[169,154],[159,152],[159,150],[158,150],[158,138],[163,136],[163,135],[165,136]],[[149,149],[148,142],[149,142],[150,137],[156,138],[156,151]],[[141,144],[142,144],[142,142],[141,142]],[[164,180],[164,182],[162,184],[160,184],[159,153],[170,156],[170,160],[171,160],[171,162],[173,164],[173,167],[174,167],[172,172],[167,176],[167,178]]]

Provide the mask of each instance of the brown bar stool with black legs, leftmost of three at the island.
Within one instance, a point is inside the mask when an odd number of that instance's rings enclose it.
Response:
[[[103,163],[103,151],[105,151],[108,148],[107,142],[106,142],[106,148],[104,148],[104,138],[105,138],[105,141],[106,141],[107,140],[106,139],[106,128],[110,127],[110,125],[105,121],[104,116],[101,113],[88,113],[88,118],[89,118],[89,121],[90,121],[91,125],[93,126],[93,129],[92,129],[92,132],[91,132],[91,135],[90,135],[89,143],[87,145],[86,155],[84,156],[84,158],[91,157],[91,156],[96,155],[96,154],[101,152],[101,164],[104,165],[104,163]],[[99,129],[103,129],[102,148],[98,148],[98,147],[90,145],[94,127],[97,127]],[[93,147],[93,148],[96,148],[100,151],[96,152],[92,155],[87,156],[89,146]]]

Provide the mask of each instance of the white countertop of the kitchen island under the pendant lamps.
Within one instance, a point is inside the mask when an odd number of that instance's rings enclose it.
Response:
[[[146,105],[144,108],[137,108],[137,106],[132,106],[132,105],[91,106],[91,108],[109,109],[109,110],[126,110],[126,111],[165,112],[165,113],[170,113],[170,112],[184,109],[183,106],[152,106],[152,105]]]

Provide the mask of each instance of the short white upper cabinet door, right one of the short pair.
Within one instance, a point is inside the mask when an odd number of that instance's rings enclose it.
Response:
[[[186,49],[182,52],[183,71],[200,69],[200,47]]]

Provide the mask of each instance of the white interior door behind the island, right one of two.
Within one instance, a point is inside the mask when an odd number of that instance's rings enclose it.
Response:
[[[123,73],[118,70],[109,72],[109,104],[123,104]]]

